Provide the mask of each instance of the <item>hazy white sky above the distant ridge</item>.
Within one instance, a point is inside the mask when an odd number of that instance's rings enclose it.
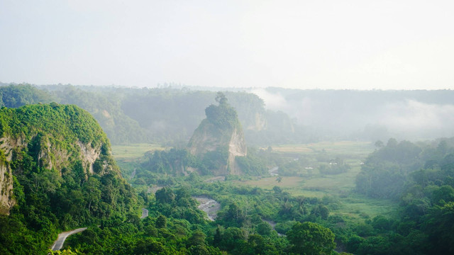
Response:
[[[454,89],[454,1],[0,0],[0,81]]]

